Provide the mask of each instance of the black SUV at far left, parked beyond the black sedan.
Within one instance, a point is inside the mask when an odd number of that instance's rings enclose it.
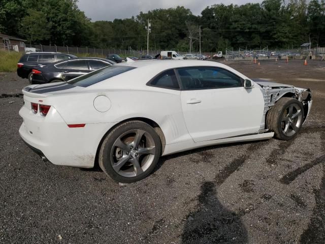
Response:
[[[30,82],[32,68],[76,57],[72,54],[60,52],[27,52],[19,59],[17,75],[21,78],[27,78]]]

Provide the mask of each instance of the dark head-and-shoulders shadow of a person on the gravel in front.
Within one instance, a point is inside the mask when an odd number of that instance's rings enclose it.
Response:
[[[247,242],[247,230],[240,217],[222,206],[215,188],[214,182],[203,182],[198,210],[187,215],[181,243]]]

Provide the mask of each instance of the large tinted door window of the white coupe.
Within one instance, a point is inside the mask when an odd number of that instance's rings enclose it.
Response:
[[[242,79],[230,71],[213,68],[197,67],[177,70],[185,90],[217,89],[243,86]]]

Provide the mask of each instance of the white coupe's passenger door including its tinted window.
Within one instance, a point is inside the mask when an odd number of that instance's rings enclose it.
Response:
[[[257,133],[264,99],[255,86],[215,67],[177,69],[182,85],[181,104],[187,130],[195,142]]]

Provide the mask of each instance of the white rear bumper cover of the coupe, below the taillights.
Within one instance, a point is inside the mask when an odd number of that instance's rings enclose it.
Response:
[[[100,141],[113,126],[99,123],[69,128],[54,107],[44,117],[24,105],[19,115],[23,118],[19,129],[23,141],[43,160],[71,167],[92,168]]]

